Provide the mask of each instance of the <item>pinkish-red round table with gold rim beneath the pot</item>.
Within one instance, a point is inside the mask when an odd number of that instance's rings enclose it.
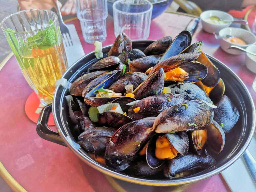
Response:
[[[163,36],[175,37],[182,31],[191,17],[164,13],[151,23],[150,37],[158,39]],[[68,24],[76,26],[84,52],[88,54],[94,46],[84,42],[78,19]],[[112,17],[107,19],[107,40],[103,46],[112,44],[115,39]],[[203,51],[228,65],[246,84],[255,100],[252,90],[255,74],[244,65],[244,55],[228,55],[219,47],[219,40],[212,34],[205,33],[199,24],[193,42],[203,40]],[[1,66],[1,65],[0,65]],[[26,99],[32,89],[25,81],[14,56],[0,71],[0,160],[6,170],[27,191],[156,191],[159,189],[135,186],[120,182],[83,163],[67,147],[51,143],[40,138],[36,133],[36,124],[31,122],[24,111]],[[8,177],[8,172],[0,163],[0,175],[22,191],[15,180]],[[122,186],[120,186],[121,184]],[[162,190],[163,188],[161,188]],[[168,191],[168,188],[165,188]],[[221,175],[215,175],[203,181],[191,184],[185,191],[230,191]]]

